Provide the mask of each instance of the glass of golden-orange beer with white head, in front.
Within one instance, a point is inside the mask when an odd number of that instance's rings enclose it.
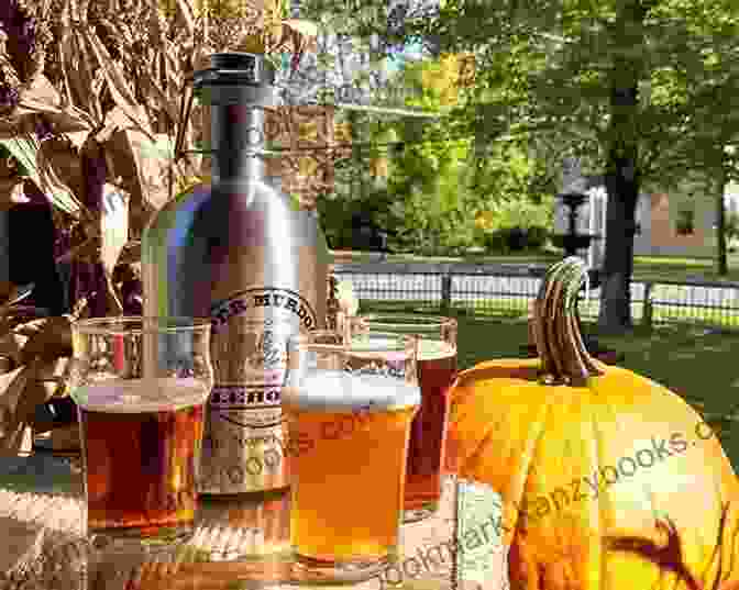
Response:
[[[399,555],[420,402],[416,347],[412,336],[377,332],[351,345],[327,332],[288,344],[290,544],[297,564],[322,580],[368,579]]]

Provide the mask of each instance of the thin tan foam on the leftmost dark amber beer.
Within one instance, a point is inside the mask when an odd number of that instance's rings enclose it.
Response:
[[[199,379],[103,379],[71,391],[71,398],[92,412],[164,412],[198,405],[208,388]]]

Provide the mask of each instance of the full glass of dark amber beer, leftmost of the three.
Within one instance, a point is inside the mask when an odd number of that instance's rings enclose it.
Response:
[[[168,547],[194,532],[210,320],[102,318],[71,326],[90,539]]]

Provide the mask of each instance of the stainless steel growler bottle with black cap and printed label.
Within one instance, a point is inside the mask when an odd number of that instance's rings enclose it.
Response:
[[[262,56],[221,53],[195,74],[211,108],[212,180],[162,208],[142,238],[144,313],[209,315],[214,387],[198,491],[289,486],[280,386],[287,338],[323,327],[328,248],[315,212],[265,178]],[[274,183],[273,183],[274,185]]]

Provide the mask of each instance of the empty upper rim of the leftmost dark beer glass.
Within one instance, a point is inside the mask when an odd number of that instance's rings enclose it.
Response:
[[[169,324],[168,322],[172,322]],[[129,327],[130,324],[139,327]],[[87,318],[71,323],[71,330],[81,334],[158,334],[176,332],[197,332],[210,330],[210,318],[187,315],[111,315],[106,318]],[[150,327],[151,326],[151,327]]]

